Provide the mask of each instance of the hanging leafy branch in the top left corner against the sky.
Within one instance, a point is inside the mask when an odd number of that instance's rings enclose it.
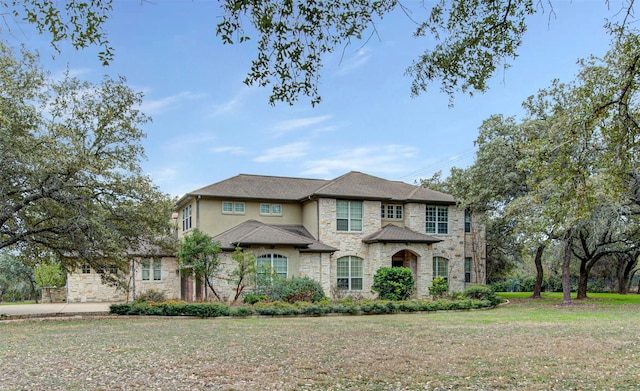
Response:
[[[113,59],[113,48],[104,25],[112,10],[111,3],[112,0],[92,1],[90,5],[84,0],[66,0],[63,3],[53,0],[0,0],[0,8],[9,8],[14,17],[35,25],[40,34],[51,34],[51,46],[58,53],[60,43],[65,40],[70,41],[75,49],[100,46],[98,58],[103,65],[108,65]]]

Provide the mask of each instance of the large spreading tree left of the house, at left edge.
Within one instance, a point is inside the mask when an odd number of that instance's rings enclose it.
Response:
[[[0,43],[0,249],[124,270],[170,232],[171,199],[140,167],[142,95],[124,79],[50,80],[37,60]]]

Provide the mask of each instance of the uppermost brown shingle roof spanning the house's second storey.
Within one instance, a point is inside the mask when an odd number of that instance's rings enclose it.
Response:
[[[453,196],[357,171],[333,180],[240,174],[186,194],[190,197],[302,201],[309,197],[454,204]]]

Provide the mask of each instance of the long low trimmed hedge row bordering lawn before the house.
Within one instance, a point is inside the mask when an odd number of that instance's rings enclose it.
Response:
[[[159,315],[159,316],[197,316],[202,318],[219,316],[284,316],[313,315],[329,313],[342,314],[392,314],[396,312],[469,310],[493,307],[501,299],[486,286],[473,286],[462,293],[459,300],[353,300],[345,299],[336,303],[329,300],[319,302],[282,301],[257,302],[253,306],[233,307],[221,303],[149,303],[135,302],[111,305],[111,313],[117,315]]]

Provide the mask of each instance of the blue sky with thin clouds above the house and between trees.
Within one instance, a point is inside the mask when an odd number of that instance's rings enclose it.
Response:
[[[48,37],[29,25],[2,38],[38,49],[52,74],[67,67],[83,80],[125,76],[145,94],[147,159],[143,169],[179,196],[239,173],[334,178],[356,170],[413,183],[473,162],[478,126],[492,114],[519,115],[529,95],[554,78],[570,81],[576,61],[606,52],[602,27],[621,0],[555,0],[554,14],[530,18],[518,59],[499,71],[490,90],[460,95],[454,107],[434,85],[410,97],[405,69],[431,45],[411,37],[401,12],[377,24],[377,36],[325,58],[323,101],[268,104],[269,90],[242,81],[255,43],[222,45],[215,35],[217,1],[114,0],[106,25],[115,60],[100,65],[97,49],[63,48],[51,58]],[[420,18],[418,1],[405,2]],[[422,11],[424,12],[424,11]]]

